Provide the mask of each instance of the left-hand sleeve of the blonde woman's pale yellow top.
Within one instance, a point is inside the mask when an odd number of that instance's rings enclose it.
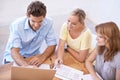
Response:
[[[66,41],[67,35],[68,35],[67,24],[64,23],[61,30],[60,30],[60,39]]]

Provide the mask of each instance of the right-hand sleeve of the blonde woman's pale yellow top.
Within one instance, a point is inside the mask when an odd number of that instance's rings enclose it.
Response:
[[[86,32],[83,33],[80,50],[91,48],[91,42],[92,42],[91,39],[92,39],[91,32],[88,29]]]

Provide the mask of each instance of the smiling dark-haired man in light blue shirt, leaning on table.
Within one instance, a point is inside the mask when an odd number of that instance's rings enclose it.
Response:
[[[22,17],[10,26],[10,36],[4,54],[4,63],[15,61],[20,66],[42,64],[55,50],[56,37],[53,22],[46,18],[46,6],[33,1],[27,8],[26,17]],[[40,52],[45,40],[47,48]],[[32,57],[29,62],[25,59]]]

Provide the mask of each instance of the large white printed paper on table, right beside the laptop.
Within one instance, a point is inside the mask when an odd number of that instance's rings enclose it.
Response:
[[[62,80],[82,80],[83,72],[61,64],[59,68],[56,68],[55,76]]]

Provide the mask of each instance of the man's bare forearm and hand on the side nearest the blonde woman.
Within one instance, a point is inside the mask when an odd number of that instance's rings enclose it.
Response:
[[[52,53],[54,53],[55,48],[56,48],[55,45],[48,46],[42,54],[34,56],[29,61],[29,64],[30,65],[36,65],[36,66],[41,65],[49,56],[52,55]]]

